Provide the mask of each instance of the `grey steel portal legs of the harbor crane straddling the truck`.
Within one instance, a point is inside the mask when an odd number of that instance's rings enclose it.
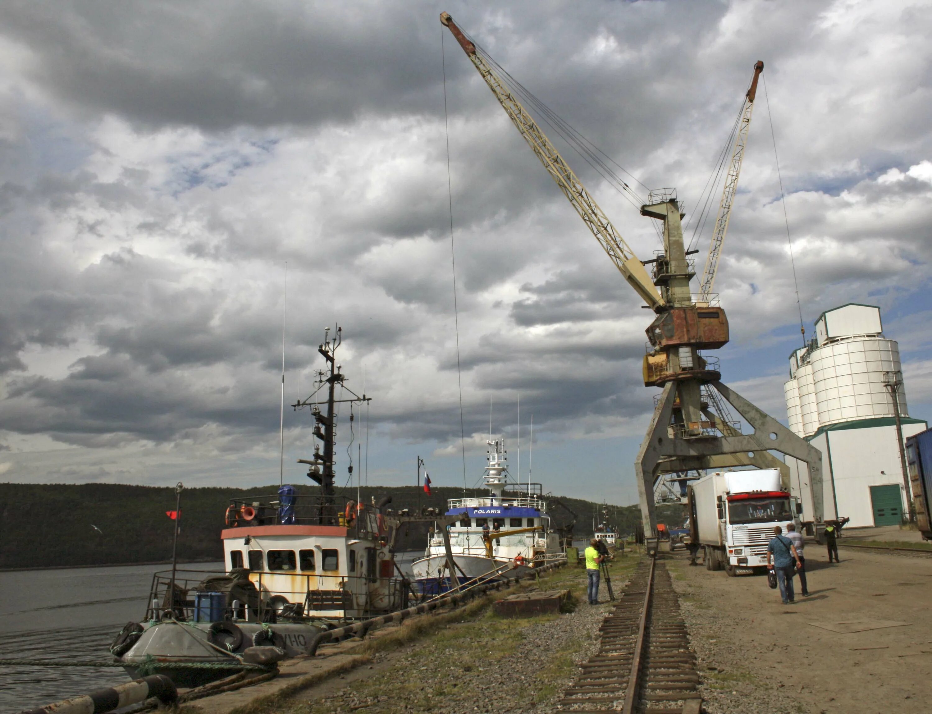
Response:
[[[754,433],[737,433],[731,426],[714,419],[717,424],[720,423],[719,429],[723,434],[721,436],[677,438],[675,430],[671,436],[669,427],[678,385],[676,382],[668,382],[654,408],[651,426],[641,443],[635,462],[637,492],[640,496],[645,535],[655,535],[657,532],[653,487],[662,475],[754,465],[759,468],[778,468],[786,479],[786,464],[777,460],[768,453],[769,451],[776,451],[806,463],[815,511],[814,520],[821,522],[824,513],[822,453],[736,391],[720,382],[711,382],[711,385],[747,421]]]

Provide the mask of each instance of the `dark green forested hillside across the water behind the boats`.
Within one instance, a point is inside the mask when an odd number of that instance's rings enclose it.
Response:
[[[274,494],[277,486],[256,488],[186,488],[182,493],[181,560],[220,559],[220,531],[230,499],[258,500]],[[316,493],[317,487],[300,486],[299,493]],[[434,487],[428,496],[416,487],[365,487],[363,501],[391,495],[393,510],[414,509],[418,502],[445,510],[446,500],[463,495],[462,488]],[[337,493],[356,498],[355,488]],[[470,491],[480,495],[485,491]],[[577,537],[592,532],[593,514],[600,504],[559,497],[577,516]],[[39,568],[69,565],[144,563],[171,558],[173,521],[166,511],[175,507],[171,487],[122,484],[37,485],[0,484],[0,568]],[[637,506],[610,505],[610,523],[622,533],[633,533]],[[566,509],[550,506],[556,526],[573,520]],[[97,527],[97,529],[94,528]],[[98,530],[99,529],[99,530]],[[398,542],[399,550],[424,547],[427,526],[411,529]]]

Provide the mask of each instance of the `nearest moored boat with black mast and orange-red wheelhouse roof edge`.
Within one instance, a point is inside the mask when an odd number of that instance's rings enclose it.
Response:
[[[369,401],[349,389],[336,364],[341,341],[340,328],[333,338],[328,329],[318,349],[326,369],[308,399],[293,405],[309,409],[322,442],[312,459],[298,460],[319,488],[304,493],[282,483],[267,497],[230,501],[220,534],[225,570],[156,573],[144,618],[111,646],[130,676],[156,667],[178,686],[198,686],[230,674],[224,666],[306,653],[322,629],[407,607],[409,583],[393,577],[383,515],[391,498],[364,503],[334,487],[336,405]]]

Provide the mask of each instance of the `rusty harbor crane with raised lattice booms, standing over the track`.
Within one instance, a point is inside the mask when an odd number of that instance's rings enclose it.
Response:
[[[722,384],[718,359],[700,352],[718,350],[729,340],[725,311],[710,291],[728,227],[741,159],[744,157],[753,93],[749,90],[746,95],[742,125],[726,180],[725,196],[720,205],[721,225],[717,220],[716,239],[713,240],[706,265],[703,286],[706,290],[707,282],[707,292],[693,295],[690,281],[695,277],[695,272],[683,241],[681,221],[685,213],[677,200],[676,189],[651,191],[648,202],[640,208],[641,215],[663,223],[664,250],[658,257],[648,261],[653,265],[652,275],[649,275],[644,262],[637,258],[621,232],[598,206],[596,199],[569,168],[569,164],[560,156],[533,117],[518,102],[508,83],[493,69],[494,61],[490,61],[487,53],[477,48],[449,13],[441,13],[440,21],[456,38],[459,47],[473,62],[479,75],[541,160],[544,169],[569,199],[576,213],[579,213],[583,223],[609,254],[624,280],[655,313],[647,329],[650,345],[644,357],[643,377],[645,386],[661,387],[663,391],[656,400],[651,425],[635,462],[645,534],[656,537],[657,517],[653,492],[657,481],[665,474],[753,465],[758,468],[779,468],[788,484],[787,465],[776,459],[770,451],[807,464],[815,510],[813,521],[816,528],[819,528],[823,515],[821,452]],[[755,65],[752,89],[756,89],[762,69],[763,63],[758,62]],[[718,240],[717,244],[715,240]],[[753,433],[741,432],[740,423],[729,418],[722,401],[733,406],[753,429]]]

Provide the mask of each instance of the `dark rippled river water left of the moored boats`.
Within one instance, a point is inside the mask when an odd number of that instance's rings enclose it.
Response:
[[[410,575],[417,553],[396,558]],[[144,617],[152,574],[166,565],[0,572],[0,658],[110,658],[120,628]],[[185,568],[223,570],[223,563]],[[0,712],[19,712],[112,687],[130,678],[117,668],[0,666]]]

